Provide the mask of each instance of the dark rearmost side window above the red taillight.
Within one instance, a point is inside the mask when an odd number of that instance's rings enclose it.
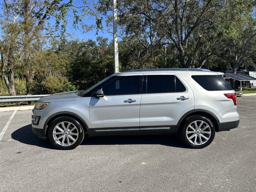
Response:
[[[192,75],[192,78],[205,90],[226,91],[233,90],[221,75]]]

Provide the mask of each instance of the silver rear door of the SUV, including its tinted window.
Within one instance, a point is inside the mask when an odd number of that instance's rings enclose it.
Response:
[[[168,133],[192,109],[193,91],[178,74],[144,73],[140,134]]]

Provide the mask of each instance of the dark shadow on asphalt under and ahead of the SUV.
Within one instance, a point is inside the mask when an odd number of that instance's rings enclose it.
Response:
[[[12,133],[12,139],[28,145],[55,149],[48,140],[41,140],[32,132],[30,124],[23,126]],[[181,140],[172,135],[131,135],[131,136],[98,136],[86,138],[81,145],[136,145],[160,144],[177,148],[186,148]]]

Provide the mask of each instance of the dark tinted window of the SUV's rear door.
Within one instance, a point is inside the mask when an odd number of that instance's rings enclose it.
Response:
[[[185,87],[174,75],[148,75],[146,93],[184,92]]]

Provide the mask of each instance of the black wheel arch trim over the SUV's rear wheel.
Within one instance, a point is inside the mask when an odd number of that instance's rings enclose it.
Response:
[[[186,112],[178,121],[178,124],[176,126],[176,133],[178,133],[178,130],[180,127],[182,127],[182,124],[185,122],[185,120],[191,116],[195,116],[195,115],[201,115],[201,116],[205,116],[207,118],[209,118],[212,123],[214,124],[215,130],[216,132],[218,132],[219,128],[218,128],[218,123],[220,122],[220,120],[217,118],[217,116],[209,111],[209,110],[205,110],[205,109],[194,109],[194,110],[190,110],[189,112]]]

